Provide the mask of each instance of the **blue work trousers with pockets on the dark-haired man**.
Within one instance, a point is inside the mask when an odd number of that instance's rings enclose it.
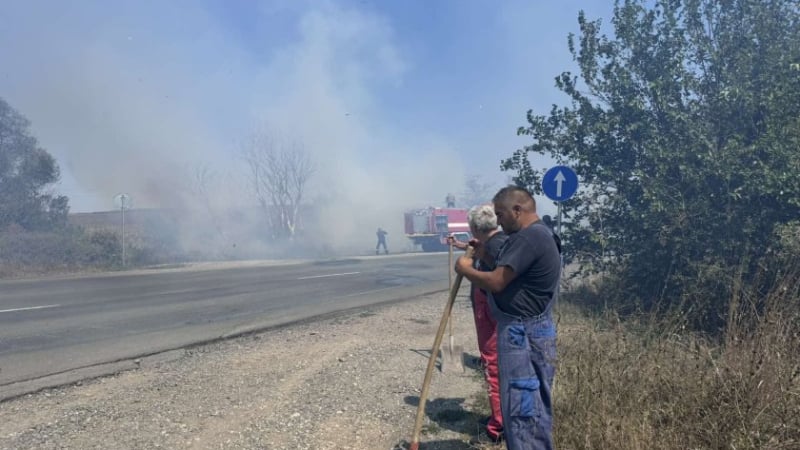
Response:
[[[553,449],[553,397],[556,326],[548,308],[532,318],[501,311],[497,320],[500,404],[508,450]]]

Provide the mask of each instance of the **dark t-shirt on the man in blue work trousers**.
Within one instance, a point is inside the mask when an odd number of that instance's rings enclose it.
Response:
[[[510,234],[497,266],[508,266],[514,280],[494,295],[505,313],[524,318],[542,314],[555,301],[561,276],[561,255],[553,233],[541,221]]]

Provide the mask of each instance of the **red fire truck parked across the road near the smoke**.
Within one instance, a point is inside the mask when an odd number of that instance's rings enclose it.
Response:
[[[406,236],[425,252],[447,251],[447,236],[470,240],[467,209],[423,208],[406,211]]]

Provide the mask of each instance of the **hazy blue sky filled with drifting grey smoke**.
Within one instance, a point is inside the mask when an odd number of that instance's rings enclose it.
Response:
[[[313,153],[313,195],[427,206],[467,174],[506,181],[526,110],[564,100],[553,79],[574,68],[578,11],[608,24],[612,5],[5,0],[0,97],[58,159],[73,211],[111,209],[119,192],[186,201],[197,166],[227,180],[224,201],[247,202],[237,151],[263,127]]]

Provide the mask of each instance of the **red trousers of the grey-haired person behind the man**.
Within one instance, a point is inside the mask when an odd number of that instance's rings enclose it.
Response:
[[[492,414],[486,432],[492,439],[503,435],[503,415],[500,412],[500,383],[497,368],[497,322],[492,319],[489,299],[482,289],[472,286],[472,310],[475,315],[475,329],[478,332],[478,350],[484,367],[486,384],[489,388],[489,405]]]

